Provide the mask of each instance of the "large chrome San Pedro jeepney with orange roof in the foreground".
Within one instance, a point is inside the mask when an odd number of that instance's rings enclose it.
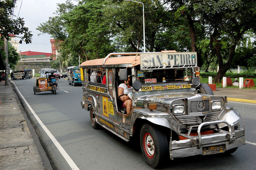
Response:
[[[153,168],[168,158],[231,154],[245,144],[237,110],[226,104],[226,97],[214,96],[207,84],[200,83],[196,52],[110,53],[80,67],[81,106],[89,111],[92,127],[103,126],[126,141],[139,138]],[[100,67],[106,70],[106,85],[91,82]],[[132,111],[122,113],[117,91],[128,75]]]

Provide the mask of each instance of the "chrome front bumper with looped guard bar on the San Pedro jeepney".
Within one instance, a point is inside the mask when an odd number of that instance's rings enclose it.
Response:
[[[219,123],[228,125],[227,131],[219,130]],[[201,135],[201,128],[205,125],[216,124],[219,133]],[[169,150],[170,158],[188,157],[193,155],[202,155],[202,147],[222,145],[226,146],[226,150],[236,148],[245,144],[244,129],[234,130],[236,124],[229,124],[224,120],[204,122],[198,126],[198,136],[191,136],[190,139],[170,141]],[[232,129],[233,128],[233,129]],[[225,151],[226,151],[225,150]]]

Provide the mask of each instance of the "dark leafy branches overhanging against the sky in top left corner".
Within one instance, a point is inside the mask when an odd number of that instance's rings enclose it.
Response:
[[[0,1],[0,34],[1,36],[8,39],[9,34],[13,34],[16,37],[21,38],[19,43],[22,41],[26,42],[26,44],[31,43],[32,35],[31,31],[28,31],[28,28],[25,27],[25,22],[23,18],[13,19],[16,17],[13,15],[13,8],[15,6],[17,0],[4,0]],[[10,19],[10,16],[12,19]],[[23,34],[23,36],[18,36]]]

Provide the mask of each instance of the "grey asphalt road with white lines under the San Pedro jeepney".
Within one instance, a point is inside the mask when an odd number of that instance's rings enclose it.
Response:
[[[91,127],[89,113],[80,106],[81,86],[73,87],[60,79],[56,95],[51,92],[34,95],[35,78],[13,82],[25,99],[24,107],[55,169],[152,169],[144,161],[139,145],[125,142],[103,128]],[[199,155],[169,160],[162,169],[255,169],[256,105],[228,104],[245,117],[246,145],[229,156]],[[240,125],[243,126],[243,119]]]

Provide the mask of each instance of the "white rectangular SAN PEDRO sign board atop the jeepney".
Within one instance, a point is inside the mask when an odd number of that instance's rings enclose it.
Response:
[[[140,69],[168,69],[197,67],[196,52],[140,54]]]

